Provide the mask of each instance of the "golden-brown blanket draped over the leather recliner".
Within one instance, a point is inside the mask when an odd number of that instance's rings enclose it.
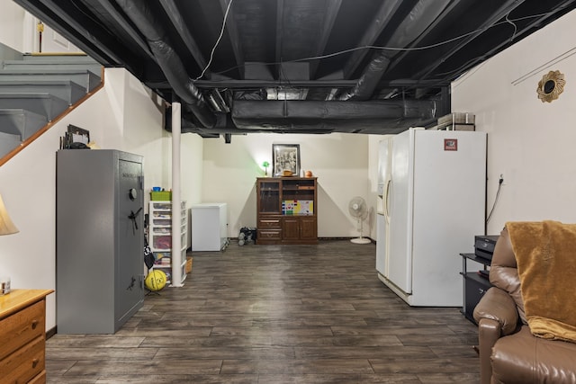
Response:
[[[576,224],[508,222],[533,335],[576,343]]]

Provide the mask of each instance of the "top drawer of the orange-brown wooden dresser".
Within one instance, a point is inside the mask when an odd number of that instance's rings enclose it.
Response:
[[[0,359],[38,336],[44,337],[44,300],[0,321]]]

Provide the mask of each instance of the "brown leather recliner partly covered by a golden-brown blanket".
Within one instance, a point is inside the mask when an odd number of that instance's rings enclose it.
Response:
[[[576,344],[530,333],[506,228],[494,249],[490,281],[493,287],[473,314],[478,322],[481,383],[576,383]]]

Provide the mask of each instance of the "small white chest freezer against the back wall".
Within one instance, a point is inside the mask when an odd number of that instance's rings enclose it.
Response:
[[[192,251],[220,251],[228,246],[228,205],[203,202],[190,207]]]

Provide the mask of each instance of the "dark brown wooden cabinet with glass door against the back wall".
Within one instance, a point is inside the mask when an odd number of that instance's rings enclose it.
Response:
[[[318,243],[316,177],[257,178],[257,244]]]

